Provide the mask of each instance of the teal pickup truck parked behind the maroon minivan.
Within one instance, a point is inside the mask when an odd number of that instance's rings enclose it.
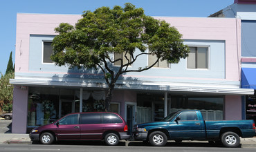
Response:
[[[222,143],[226,147],[237,147],[239,137],[253,137],[253,120],[205,121],[201,111],[179,111],[171,113],[161,122],[147,122],[133,126],[134,140],[149,142],[153,146],[165,146],[167,140],[206,140]]]

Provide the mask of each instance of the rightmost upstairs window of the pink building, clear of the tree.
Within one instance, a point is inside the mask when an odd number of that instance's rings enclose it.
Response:
[[[208,68],[208,47],[190,47],[187,68]]]

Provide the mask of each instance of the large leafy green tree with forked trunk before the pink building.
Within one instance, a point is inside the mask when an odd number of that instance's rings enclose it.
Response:
[[[51,59],[58,66],[95,68],[102,70],[108,85],[105,111],[109,111],[115,83],[125,73],[142,72],[158,61],[178,63],[188,57],[189,48],[182,35],[169,23],[146,16],[143,8],[125,3],[125,8],[102,7],[94,12],[83,12],[75,26],[60,23],[55,28]],[[147,52],[146,50],[151,50]],[[140,53],[135,54],[135,51]],[[113,58],[119,54],[119,58]],[[130,69],[142,55],[154,55],[156,61],[147,67]],[[113,68],[113,64],[120,63]]]

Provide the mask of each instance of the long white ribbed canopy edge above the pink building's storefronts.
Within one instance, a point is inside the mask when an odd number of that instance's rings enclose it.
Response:
[[[88,87],[88,88],[107,88],[107,84],[98,85],[97,82],[73,81],[66,82],[53,81],[52,79],[10,79],[10,84],[24,86],[63,86],[63,87]],[[122,89],[151,90],[151,91],[178,91],[190,93],[212,93],[217,95],[253,95],[252,88],[239,88],[235,85],[225,84],[194,84],[182,82],[140,82],[140,84],[122,84],[116,86]]]

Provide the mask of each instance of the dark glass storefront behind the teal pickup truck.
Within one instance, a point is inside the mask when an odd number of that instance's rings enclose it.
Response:
[[[171,98],[171,99],[170,99]],[[200,110],[205,120],[223,120],[224,97],[171,96],[167,99],[167,113],[194,109]],[[162,120],[164,95],[137,95],[137,123]]]

